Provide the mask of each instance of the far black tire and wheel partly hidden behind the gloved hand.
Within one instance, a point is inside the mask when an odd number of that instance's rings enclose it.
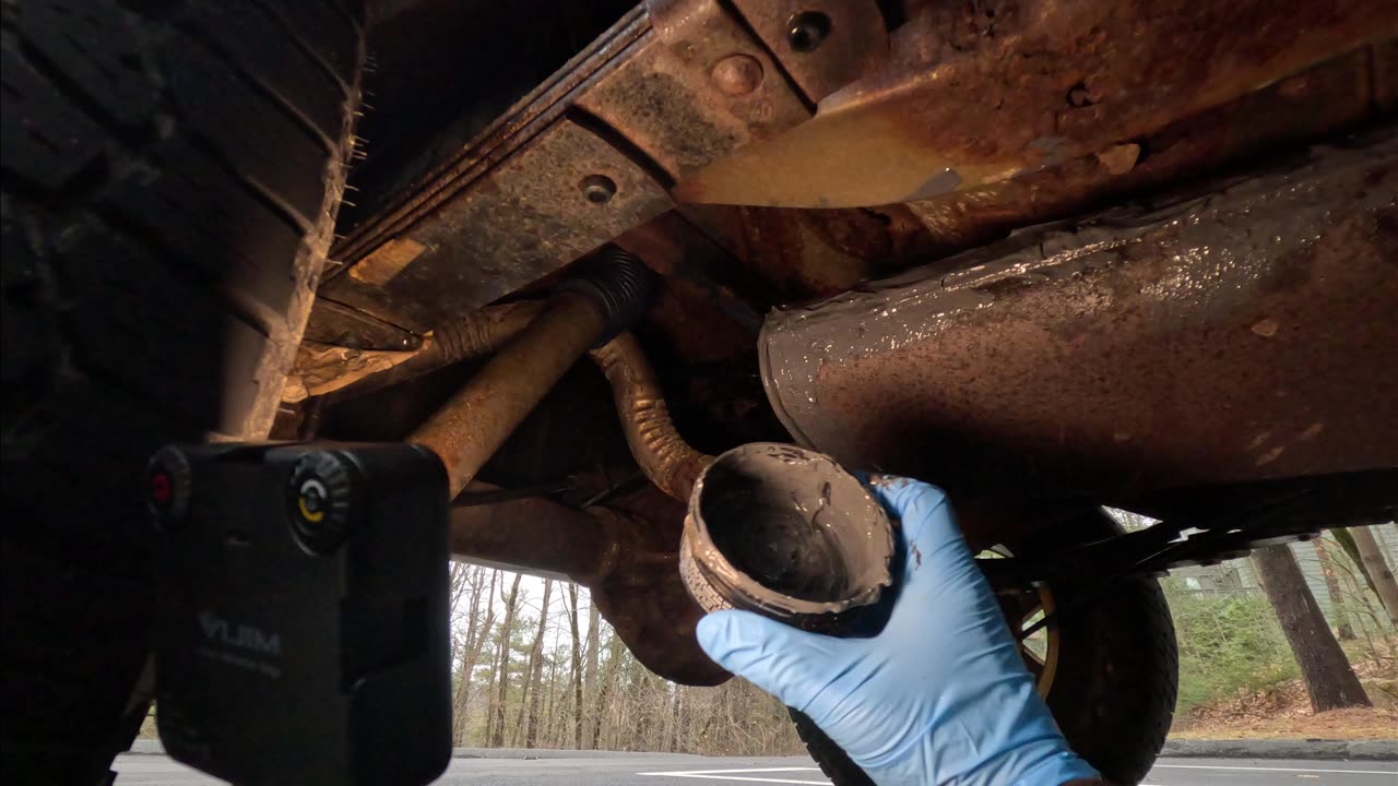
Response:
[[[1051,534],[1062,548],[1120,531],[1106,512],[1092,509]],[[1035,547],[1026,541],[1005,550]],[[1170,731],[1179,685],[1174,624],[1159,582],[1124,579],[1109,593],[1090,596],[1051,586],[1028,593],[997,587],[997,594],[1011,629],[1036,629],[1021,636],[1025,664],[1068,744],[1107,780],[1138,783]],[[1039,625],[1046,613],[1048,622]],[[811,757],[836,786],[872,783],[809,717],[788,712]]]

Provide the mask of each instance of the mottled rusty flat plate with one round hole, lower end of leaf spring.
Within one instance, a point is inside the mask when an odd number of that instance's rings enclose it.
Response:
[[[404,238],[422,249],[384,284],[351,274],[323,291],[429,330],[554,273],[670,204],[642,166],[563,117],[410,229]],[[404,238],[389,242],[401,246]]]

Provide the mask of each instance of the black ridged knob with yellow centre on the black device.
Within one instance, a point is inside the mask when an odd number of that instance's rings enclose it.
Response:
[[[340,547],[361,513],[359,474],[334,452],[308,453],[296,462],[287,488],[291,531],[312,554]]]

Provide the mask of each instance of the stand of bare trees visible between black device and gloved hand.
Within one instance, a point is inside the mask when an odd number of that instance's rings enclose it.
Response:
[[[523,582],[477,566],[452,576],[461,634],[456,642],[461,681],[453,699],[459,744],[470,737],[487,745],[517,741],[535,748],[593,745],[714,755],[800,750],[780,705],[754,685],[671,685],[626,652],[600,617],[584,631],[584,593],[576,586],[545,587],[540,620],[526,624],[534,604],[526,600]],[[558,594],[568,613],[562,627],[551,613]],[[586,692],[589,641],[597,642],[591,694]],[[488,680],[482,666],[489,669]]]

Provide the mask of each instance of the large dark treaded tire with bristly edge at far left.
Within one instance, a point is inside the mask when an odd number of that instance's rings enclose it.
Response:
[[[352,152],[355,6],[4,4],[6,783],[108,782],[145,715],[145,459],[271,427]]]

